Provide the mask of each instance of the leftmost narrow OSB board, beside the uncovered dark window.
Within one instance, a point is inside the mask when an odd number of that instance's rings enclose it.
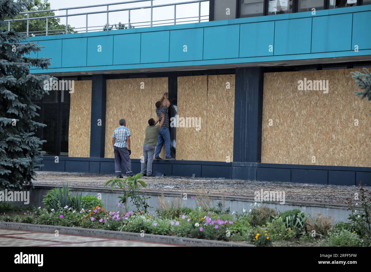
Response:
[[[69,157],[90,157],[91,101],[91,80],[75,81],[74,92],[70,94]]]

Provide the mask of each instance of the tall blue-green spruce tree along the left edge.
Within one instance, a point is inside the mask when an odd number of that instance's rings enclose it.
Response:
[[[36,122],[40,109],[32,101],[44,94],[48,75],[32,75],[30,67],[47,68],[50,58],[27,56],[40,51],[36,43],[26,42],[24,34],[8,31],[6,19],[24,10],[20,2],[0,0],[0,190],[24,189],[32,184],[40,168],[43,142],[35,136],[45,125]]]

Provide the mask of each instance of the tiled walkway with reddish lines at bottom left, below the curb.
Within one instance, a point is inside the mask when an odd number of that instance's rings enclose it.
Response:
[[[82,236],[71,234],[14,231],[0,229],[0,247],[2,246],[175,246],[152,242],[129,241],[95,236]]]

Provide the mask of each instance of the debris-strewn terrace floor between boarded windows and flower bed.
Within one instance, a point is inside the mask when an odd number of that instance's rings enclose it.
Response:
[[[111,174],[85,174],[66,172],[37,172],[35,185],[62,185],[70,187],[105,188],[104,184],[113,178]],[[255,191],[284,191],[286,201],[308,201],[346,204],[354,197],[355,186],[298,184],[290,182],[261,182],[224,178],[187,177],[143,177],[147,190],[159,192],[196,193],[204,185],[208,194],[254,197]],[[108,188],[108,187],[106,187]],[[369,189],[371,189],[369,187]]]

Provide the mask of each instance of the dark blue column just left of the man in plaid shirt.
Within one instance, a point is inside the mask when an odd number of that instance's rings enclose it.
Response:
[[[99,119],[101,125],[98,125]],[[90,157],[104,158],[106,130],[106,78],[92,75],[92,112],[90,125]]]

